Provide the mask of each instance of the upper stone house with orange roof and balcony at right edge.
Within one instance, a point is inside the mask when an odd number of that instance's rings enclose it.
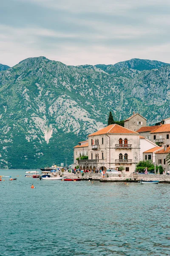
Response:
[[[170,124],[161,124],[150,131],[150,140],[159,145],[170,145]]]

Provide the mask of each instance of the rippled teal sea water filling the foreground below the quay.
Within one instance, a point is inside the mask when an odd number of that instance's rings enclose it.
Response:
[[[39,180],[25,171],[0,170],[17,178],[0,182],[1,256],[170,255],[170,184]]]

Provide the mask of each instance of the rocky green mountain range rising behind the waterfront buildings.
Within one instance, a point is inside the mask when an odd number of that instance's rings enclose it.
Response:
[[[66,157],[71,164],[74,145],[104,127],[109,111],[115,120],[139,112],[148,124],[169,117],[170,66],[156,63],[142,71],[74,67],[41,56],[1,71],[0,168],[40,168]]]

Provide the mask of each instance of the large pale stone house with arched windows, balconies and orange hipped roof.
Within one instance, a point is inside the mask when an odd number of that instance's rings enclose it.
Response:
[[[140,160],[139,134],[120,125],[113,124],[88,135],[88,160],[79,160],[82,169],[119,169],[125,173],[135,171]]]

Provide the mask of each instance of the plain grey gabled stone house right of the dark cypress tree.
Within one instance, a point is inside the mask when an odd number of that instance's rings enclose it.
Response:
[[[133,115],[125,120],[125,128],[137,131],[139,128],[146,126],[147,119],[139,113],[133,112]]]

